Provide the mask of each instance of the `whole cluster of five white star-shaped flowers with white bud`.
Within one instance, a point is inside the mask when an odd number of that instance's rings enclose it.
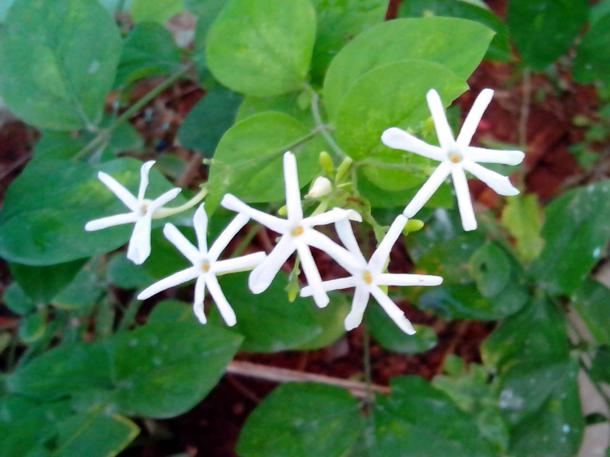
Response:
[[[386,271],[390,250],[400,233],[403,232],[408,218],[415,216],[417,211],[425,205],[450,174],[458,198],[458,208],[464,230],[474,230],[476,228],[475,213],[468,191],[465,171],[481,179],[498,194],[515,195],[519,193],[519,190],[511,185],[508,177],[490,171],[478,165],[478,162],[517,165],[523,160],[523,152],[495,151],[469,146],[492,96],[493,91],[490,89],[486,89],[479,94],[472,110],[464,121],[464,126],[462,126],[458,138],[454,139],[439,94],[435,90],[429,91],[427,94],[428,106],[436,127],[440,147],[424,143],[397,127],[387,129],[382,134],[381,141],[387,146],[440,161],[440,165],[415,194],[415,197],[404,209],[403,214],[392,222],[378,248],[371,255],[370,260],[367,261],[362,255],[351,227],[350,220],[362,222],[361,215],[356,211],[333,208],[325,213],[304,217],[296,158],[291,152],[286,152],[284,154],[286,219],[256,210],[234,195],[226,194],[221,201],[221,205],[228,210],[235,211],[237,216],[218,236],[210,249],[207,248],[207,214],[203,204],[195,212],[193,218],[198,248],[193,246],[173,224],[165,224],[163,235],[176,246],[192,266],[149,286],[138,294],[138,299],[145,300],[167,288],[196,279],[193,310],[199,321],[202,324],[207,322],[203,307],[205,288],[207,287],[224,322],[227,325],[235,325],[237,322],[235,313],[224,297],[217,276],[252,270],[248,277],[248,287],[253,294],[260,294],[267,290],[285,261],[296,252],[307,278],[307,286],[301,289],[300,294],[302,297],[312,296],[318,307],[323,308],[328,305],[329,298],[326,292],[355,288],[351,311],[345,318],[346,330],[351,330],[361,324],[368,300],[372,295],[398,327],[405,333],[412,335],[415,330],[411,322],[380,286],[436,286],[442,283],[443,278],[433,275],[389,274],[384,272]],[[137,198],[115,179],[99,172],[99,179],[132,212],[96,219],[85,225],[86,230],[100,230],[113,225],[135,222],[134,232],[129,240],[127,258],[136,264],[143,263],[150,254],[151,220],[162,217],[160,208],[174,199],[180,192],[180,189],[176,188],[162,194],[155,200],[145,199],[148,174],[152,165],[154,165],[154,161],[148,161],[142,165]],[[330,187],[331,183],[328,179],[320,178],[312,185],[307,196],[317,198],[328,194]],[[268,255],[264,252],[255,252],[240,257],[218,260],[231,239],[237,235],[237,232],[249,219],[253,219],[281,235],[273,250]],[[314,228],[318,225],[333,223],[343,246],[335,243],[331,238]],[[310,247],[326,252],[350,276],[322,281]]]

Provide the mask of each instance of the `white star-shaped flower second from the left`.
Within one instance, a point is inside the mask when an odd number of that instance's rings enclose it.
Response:
[[[185,270],[174,273],[173,275],[163,278],[159,282],[144,289],[138,294],[138,300],[146,300],[154,294],[159,293],[170,287],[188,282],[197,278],[195,283],[195,303],[193,304],[193,312],[201,324],[207,322],[206,314],[203,309],[203,300],[205,296],[205,288],[212,295],[212,299],[218,306],[218,311],[223,317],[224,322],[229,325],[235,325],[237,318],[235,311],[229,305],[223,291],[218,284],[217,276],[226,273],[237,271],[248,271],[260,264],[265,259],[264,252],[254,252],[240,257],[229,258],[227,260],[218,260],[224,248],[227,247],[231,239],[239,232],[239,230],[248,222],[248,216],[245,214],[237,214],[235,219],[224,228],[223,232],[218,236],[210,249],[207,249],[207,214],[202,204],[193,217],[193,227],[197,236],[197,249],[188,241],[186,236],[176,228],[173,224],[165,224],[163,227],[163,235],[165,238],[178,248],[178,250],[193,264]]]

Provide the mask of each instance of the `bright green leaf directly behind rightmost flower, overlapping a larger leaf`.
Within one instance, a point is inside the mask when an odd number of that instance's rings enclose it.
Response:
[[[423,60],[388,63],[364,74],[345,94],[337,115],[337,141],[354,158],[400,158],[379,138],[389,127],[415,127],[430,116],[426,93],[436,88],[446,105],[468,89],[450,69]],[[379,171],[381,172],[381,170]],[[408,178],[408,173],[404,172]]]

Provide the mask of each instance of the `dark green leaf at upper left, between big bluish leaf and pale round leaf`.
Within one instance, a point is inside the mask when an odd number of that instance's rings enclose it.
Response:
[[[122,87],[145,77],[169,75],[181,66],[178,46],[165,27],[137,24],[123,41],[114,85]]]

